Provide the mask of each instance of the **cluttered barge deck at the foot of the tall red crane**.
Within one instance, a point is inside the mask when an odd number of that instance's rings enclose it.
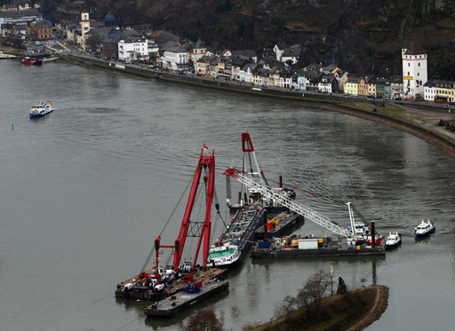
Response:
[[[216,267],[209,267],[192,272],[193,280],[192,282],[202,281],[207,282],[215,278],[222,279],[224,274],[227,272],[227,269],[221,269]],[[155,269],[150,269],[146,273],[149,275],[155,274]],[[179,293],[184,287],[188,286],[188,283],[180,278],[179,280],[172,280],[172,282],[163,290],[154,291],[153,288],[136,286],[137,281],[140,280],[141,276],[138,274],[135,277],[132,277],[129,280],[124,280],[121,283],[117,284],[116,288],[116,297],[123,297],[125,299],[140,299],[140,300],[153,300],[159,301],[163,300],[166,297],[173,296]],[[128,288],[128,284],[133,284],[132,288]]]

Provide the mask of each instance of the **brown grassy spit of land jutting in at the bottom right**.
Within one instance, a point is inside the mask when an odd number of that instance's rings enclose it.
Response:
[[[307,328],[316,331],[362,330],[379,319],[386,311],[387,301],[387,287],[370,286],[347,292],[344,295],[326,297],[319,308],[309,314],[306,308],[300,308],[279,319],[250,328],[250,330],[280,331]]]

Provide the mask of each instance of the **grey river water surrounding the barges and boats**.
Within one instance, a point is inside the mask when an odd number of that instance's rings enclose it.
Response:
[[[331,264],[348,288],[390,288],[387,311],[368,330],[452,328],[455,167],[434,146],[315,106],[61,63],[3,60],[0,77],[1,329],[176,330],[211,306],[227,330],[239,330],[267,322],[275,303]],[[58,109],[30,120],[39,100]],[[283,175],[297,201],[340,225],[352,201],[379,232],[402,232],[403,245],[379,258],[247,258],[229,273],[227,294],[175,319],[146,319],[148,303],[116,300],[116,283],[140,272],[176,205],[162,242],[177,237],[204,144],[215,149],[228,219],[222,172],[241,167],[245,130],[269,182]],[[416,241],[411,232],[428,217],[436,232]],[[309,221],[300,232],[329,234]]]

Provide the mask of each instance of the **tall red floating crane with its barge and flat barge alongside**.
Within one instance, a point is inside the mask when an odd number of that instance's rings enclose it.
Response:
[[[202,302],[228,290],[229,282],[224,280],[223,277],[226,269],[207,267],[215,182],[215,158],[213,154],[214,152],[212,152],[212,155],[204,155],[204,150],[201,151],[177,240],[174,241],[173,245],[162,245],[161,236],[156,238],[155,268],[147,272],[140,272],[137,276],[117,284],[116,297],[155,301],[156,303],[145,309],[146,314],[150,316],[172,316],[195,303]],[[197,188],[203,170],[205,171],[203,190],[205,199],[204,222],[196,222],[191,220],[191,213],[195,205]],[[216,207],[219,209],[218,204]],[[193,263],[185,262],[180,264],[188,237],[198,238],[196,254]],[[203,248],[202,266],[196,265],[201,246]],[[173,249],[172,266],[166,268],[159,266],[158,256],[162,254],[163,248]],[[177,297],[180,299],[177,300]],[[160,308],[157,310],[158,307],[166,305],[167,301],[163,301],[165,298],[173,300],[171,303],[172,309],[163,311]],[[179,304],[177,304],[177,301]]]

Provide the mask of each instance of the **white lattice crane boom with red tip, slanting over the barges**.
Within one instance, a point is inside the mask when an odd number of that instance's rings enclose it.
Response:
[[[348,236],[349,234],[351,234],[350,232],[347,231],[347,229],[342,228],[341,226],[333,222],[330,218],[324,217],[315,210],[309,209],[299,204],[298,202],[293,201],[282,191],[275,191],[270,187],[255,182],[250,177],[245,176],[243,172],[237,169],[229,168],[223,173],[223,175],[235,178],[243,185],[249,187],[252,191],[260,193],[263,198],[269,201],[274,201],[275,203],[279,203],[284,207],[287,207],[291,211],[294,211],[299,215],[305,217],[306,219],[315,222],[315,224],[323,226],[324,228],[330,230],[331,232],[338,233],[342,236]]]

